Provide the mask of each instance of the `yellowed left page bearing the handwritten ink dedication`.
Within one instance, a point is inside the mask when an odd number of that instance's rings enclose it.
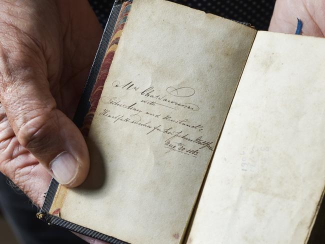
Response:
[[[134,0],[86,138],[90,174],[52,210],[126,242],[180,243],[255,34]]]

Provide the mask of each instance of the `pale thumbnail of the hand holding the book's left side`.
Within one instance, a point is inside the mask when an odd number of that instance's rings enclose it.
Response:
[[[70,153],[63,151],[49,163],[49,169],[57,182],[69,184],[75,180],[79,164]]]

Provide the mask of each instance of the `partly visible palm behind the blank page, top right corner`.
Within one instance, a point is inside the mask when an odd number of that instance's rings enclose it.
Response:
[[[325,0],[277,0],[269,31],[294,34],[297,18],[301,19],[302,34],[325,34]]]

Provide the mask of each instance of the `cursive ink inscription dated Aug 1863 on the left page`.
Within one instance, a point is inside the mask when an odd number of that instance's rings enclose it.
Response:
[[[214,150],[214,141],[205,139],[203,134],[199,135],[204,130],[204,124],[181,115],[178,117],[178,114],[171,112],[186,109],[188,113],[180,114],[189,114],[199,110],[199,106],[190,100],[195,95],[193,88],[168,86],[165,92],[160,93],[153,86],[141,88],[132,81],[123,83],[118,80],[113,81],[112,86],[131,92],[132,102],[117,96],[102,96],[100,101],[107,104],[107,108],[100,111],[99,115],[110,119],[112,123],[128,123],[145,129],[144,136],[155,133],[164,135],[166,139],[161,146],[166,149],[165,153],[177,152],[196,158],[201,150]],[[118,109],[110,110],[109,107]],[[152,110],[152,107],[156,109]],[[163,107],[166,109],[160,109]],[[169,109],[170,114],[166,113]],[[161,113],[152,112],[160,110]]]

